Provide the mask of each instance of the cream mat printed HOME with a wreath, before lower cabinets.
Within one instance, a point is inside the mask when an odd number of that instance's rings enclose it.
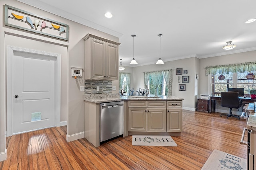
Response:
[[[177,147],[168,135],[132,135],[132,145]]]

